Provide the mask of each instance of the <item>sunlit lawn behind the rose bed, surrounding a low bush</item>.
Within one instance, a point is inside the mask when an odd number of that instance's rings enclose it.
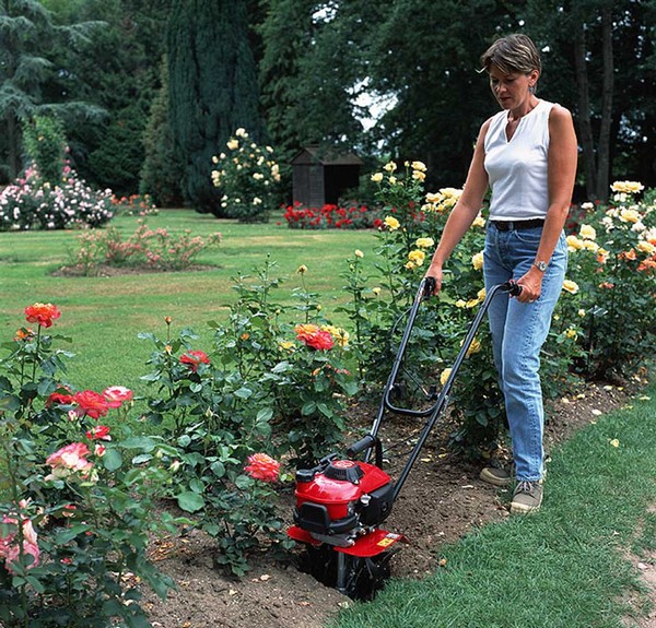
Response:
[[[129,235],[138,220],[120,216],[113,225]],[[267,259],[276,262],[273,275],[286,281],[274,298],[290,305],[292,289],[301,285],[295,271],[305,264],[307,288],[320,295],[324,311],[331,317],[345,299],[345,281],[340,277],[348,269],[345,259],[362,249],[368,262],[373,261],[373,232],[292,230],[279,217],[266,225],[242,225],[185,210],[162,211],[145,222],[152,228],[190,229],[200,236],[221,232],[222,244],[203,251],[197,260],[212,268],[113,277],[52,276],[70,262],[70,252],[78,249],[79,232],[0,233],[2,339],[10,340],[25,324],[23,310],[27,305],[54,303],[62,316],[51,331],[73,341],[70,347],[58,343],[58,348],[75,353],[69,362],[71,383],[79,389],[119,384],[139,391],[151,346],[137,334],[147,331],[164,336],[164,318],[169,316],[174,333],[190,328],[201,334],[198,342],[202,343],[209,335],[207,321],[226,319],[236,298],[233,277],[239,273],[253,275],[254,268],[261,268]]]

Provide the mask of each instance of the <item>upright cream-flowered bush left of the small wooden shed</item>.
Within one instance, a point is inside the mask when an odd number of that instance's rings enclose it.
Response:
[[[212,182],[223,191],[221,206],[227,216],[239,222],[267,222],[280,182],[273,149],[262,150],[245,129],[237,129],[226,147],[227,153],[212,157],[216,166]]]

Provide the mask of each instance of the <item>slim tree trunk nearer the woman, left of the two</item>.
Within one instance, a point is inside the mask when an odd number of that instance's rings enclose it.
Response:
[[[574,67],[576,69],[576,91],[578,94],[578,138],[583,149],[583,171],[585,174],[585,191],[589,200],[597,198],[595,141],[590,120],[590,96],[585,61],[585,29],[584,24],[577,25],[574,36]]]

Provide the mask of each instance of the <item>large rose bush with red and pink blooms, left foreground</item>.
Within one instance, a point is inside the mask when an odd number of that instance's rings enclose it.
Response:
[[[139,583],[161,596],[172,585],[147,549],[175,530],[154,509],[175,449],[132,433],[129,389],[75,392],[59,379],[55,305],[25,317],[36,331],[21,328],[0,359],[0,621],[147,626]]]

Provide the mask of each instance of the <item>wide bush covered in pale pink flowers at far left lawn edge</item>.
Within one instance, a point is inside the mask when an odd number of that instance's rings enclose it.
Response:
[[[52,186],[35,166],[0,193],[0,230],[99,227],[112,220],[110,190],[93,190],[70,166]]]

